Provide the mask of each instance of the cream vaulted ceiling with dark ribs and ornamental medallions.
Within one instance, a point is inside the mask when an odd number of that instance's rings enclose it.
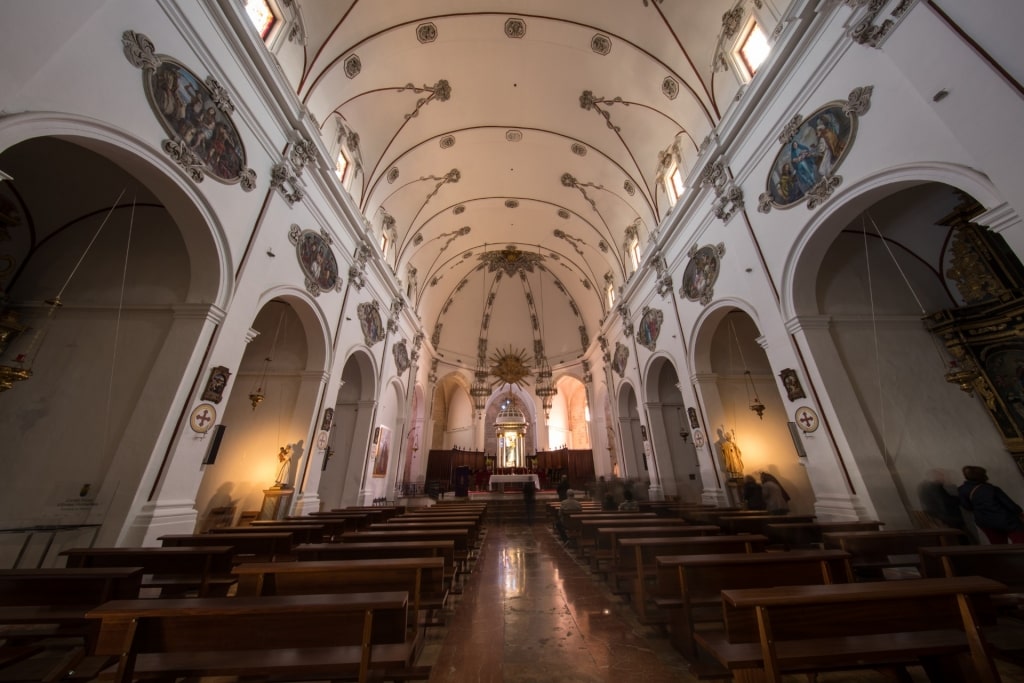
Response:
[[[467,367],[481,350],[528,357],[541,339],[557,367],[596,339],[607,283],[631,270],[627,231],[646,245],[671,208],[665,152],[677,145],[691,170],[738,90],[723,46],[752,11],[736,0],[293,2],[299,98],[329,148],[340,136],[350,151],[350,193],[374,230],[393,226],[389,265],[414,281],[436,350]]]

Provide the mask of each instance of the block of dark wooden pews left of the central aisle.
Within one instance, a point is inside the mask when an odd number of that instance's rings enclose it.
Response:
[[[410,523],[446,522],[456,512],[483,519],[479,506],[445,507],[443,514],[419,513],[424,521]],[[467,529],[453,531],[468,543]],[[238,535],[257,532],[263,533]],[[359,533],[373,535],[372,542],[355,542],[344,532],[340,543],[299,544],[287,553],[289,559],[324,558],[339,551],[349,558],[343,560],[262,562],[243,555],[240,562],[231,546],[67,551],[69,568],[0,573],[0,624],[8,629],[0,664],[5,650],[16,652],[13,658],[33,650],[32,639],[9,630],[13,625],[34,625],[38,636],[39,624],[54,624],[60,635],[77,632],[85,638],[82,654],[104,663],[115,657],[119,681],[257,673],[366,680],[371,670],[423,679],[429,670],[415,666],[422,628],[445,604],[452,581],[446,567],[456,562],[457,544],[424,540],[424,532],[409,541],[409,532],[385,538],[383,530],[368,527]],[[361,559],[352,559],[360,553]],[[118,562],[133,566],[112,566]],[[187,562],[199,562],[206,579],[194,578],[187,586],[179,572]],[[226,575],[221,562],[227,562]],[[226,597],[233,582],[234,595]],[[30,584],[39,590],[26,590]],[[139,599],[154,588],[175,597]],[[177,597],[186,590],[202,597]],[[59,667],[67,670],[70,664]],[[59,678],[59,669],[56,673]]]

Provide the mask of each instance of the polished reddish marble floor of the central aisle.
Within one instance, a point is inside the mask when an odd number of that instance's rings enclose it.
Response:
[[[530,683],[696,681],[664,634],[634,617],[540,520],[489,524],[447,624],[430,630],[430,681]],[[1024,631],[1021,632],[1024,634]],[[1004,683],[1024,668],[999,663]],[[926,681],[910,668],[914,682]],[[786,681],[806,681],[805,676]],[[873,683],[874,672],[821,675],[819,683]]]

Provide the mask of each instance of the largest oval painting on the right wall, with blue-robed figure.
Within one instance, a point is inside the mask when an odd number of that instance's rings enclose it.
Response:
[[[836,171],[853,147],[857,121],[870,109],[873,86],[854,88],[845,101],[828,102],[806,119],[799,114],[779,134],[775,156],[758,197],[758,211],[788,209],[807,200],[814,209],[843,182]]]

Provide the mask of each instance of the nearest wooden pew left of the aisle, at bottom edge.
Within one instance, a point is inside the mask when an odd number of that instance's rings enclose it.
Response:
[[[407,628],[404,592],[258,598],[113,600],[97,653],[120,657],[116,683],[139,677],[255,676],[288,680],[371,674],[425,680]]]

